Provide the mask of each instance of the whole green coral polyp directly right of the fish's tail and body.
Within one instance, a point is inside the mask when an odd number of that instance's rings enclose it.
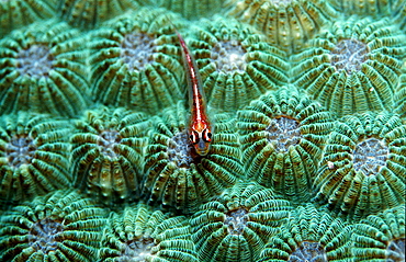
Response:
[[[249,26],[222,16],[199,24],[189,44],[210,106],[233,112],[289,81],[285,53]]]

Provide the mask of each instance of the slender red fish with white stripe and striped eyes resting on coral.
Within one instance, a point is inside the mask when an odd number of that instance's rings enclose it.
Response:
[[[174,27],[174,26],[173,26]],[[212,143],[213,129],[212,123],[207,116],[207,106],[203,92],[202,81],[198,71],[196,64],[183,37],[174,29],[182,49],[183,64],[187,69],[187,79],[189,84],[189,101],[191,109],[191,118],[189,125],[189,138],[194,149],[200,156],[207,155]]]

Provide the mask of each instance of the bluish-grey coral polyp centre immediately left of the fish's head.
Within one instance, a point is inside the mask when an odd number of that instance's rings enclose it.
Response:
[[[192,153],[193,147],[190,144],[187,132],[180,132],[169,140],[168,158],[178,168],[189,168],[193,162]]]

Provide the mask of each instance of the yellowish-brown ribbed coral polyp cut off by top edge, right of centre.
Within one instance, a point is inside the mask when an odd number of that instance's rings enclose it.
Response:
[[[290,54],[338,16],[323,0],[227,0],[225,5],[229,15],[253,25],[270,44]]]

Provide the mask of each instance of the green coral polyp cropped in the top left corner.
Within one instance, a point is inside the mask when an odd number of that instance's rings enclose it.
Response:
[[[0,37],[15,29],[55,14],[57,0],[0,1]]]

